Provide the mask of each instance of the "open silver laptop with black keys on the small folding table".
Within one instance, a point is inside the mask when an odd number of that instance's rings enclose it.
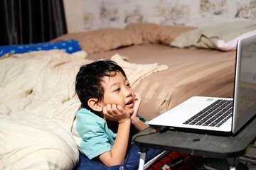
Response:
[[[256,113],[256,35],[238,40],[233,98],[193,96],[149,121],[161,130],[235,135]]]

